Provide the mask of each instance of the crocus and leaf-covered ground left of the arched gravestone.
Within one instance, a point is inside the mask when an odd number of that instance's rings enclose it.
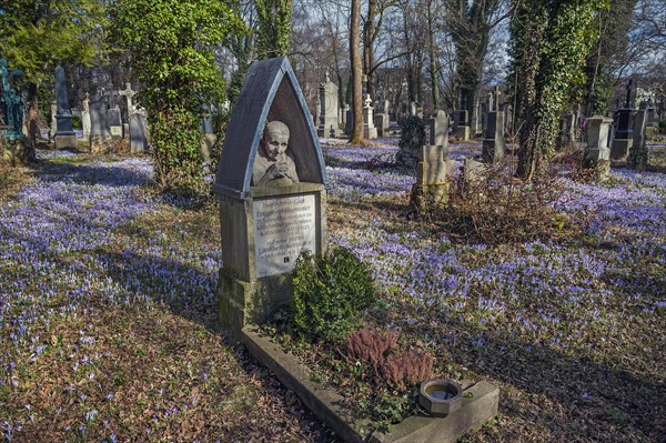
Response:
[[[216,329],[214,208],[143,158],[41,151],[0,204],[8,441],[335,441]]]

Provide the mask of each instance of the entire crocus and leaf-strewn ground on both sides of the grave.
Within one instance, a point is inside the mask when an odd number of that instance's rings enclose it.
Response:
[[[330,244],[371,265],[381,320],[501,389],[465,442],[664,441],[664,173],[558,179],[582,234],[486,245],[410,215],[414,178],[373,160],[395,140],[323,148]],[[216,204],[154,194],[145,158],[39,158],[0,199],[4,440],[334,441],[218,326]]]

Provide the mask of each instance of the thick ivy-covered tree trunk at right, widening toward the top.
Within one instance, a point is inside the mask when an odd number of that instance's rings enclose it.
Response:
[[[559,114],[597,38],[593,24],[607,0],[515,0],[511,26],[514,102],[518,122],[516,175],[531,181],[547,171]]]

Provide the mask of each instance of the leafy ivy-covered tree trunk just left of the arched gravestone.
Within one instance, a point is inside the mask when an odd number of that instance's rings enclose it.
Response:
[[[213,49],[243,33],[242,21],[219,0],[118,0],[110,12],[112,39],[144,85],[138,101],[149,115],[158,185],[204,191],[201,105],[224,100]]]

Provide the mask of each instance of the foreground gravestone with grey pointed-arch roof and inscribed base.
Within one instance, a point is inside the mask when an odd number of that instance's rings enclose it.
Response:
[[[266,122],[289,128],[284,153],[297,178],[262,181]],[[268,170],[271,168],[269,167]],[[268,173],[266,173],[268,175]],[[258,183],[255,183],[255,181]],[[220,320],[238,333],[292,298],[291,271],[302,250],[323,252],[327,178],[312,117],[285,58],[254,63],[224,138],[214,191],[220,200]]]

